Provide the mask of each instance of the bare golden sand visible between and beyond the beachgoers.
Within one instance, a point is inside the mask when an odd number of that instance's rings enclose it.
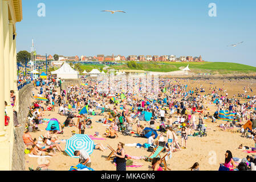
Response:
[[[217,86],[217,88],[222,87],[224,85],[224,88],[229,93],[229,97],[233,96],[233,94],[243,93],[242,87],[243,86],[250,86],[251,88],[255,88],[255,81],[222,81],[222,80],[207,80],[207,81],[198,81],[198,80],[180,80],[182,84],[188,84],[188,89],[192,88],[200,88],[200,85],[202,84],[202,87],[205,88],[205,94],[210,93],[209,88],[211,86]],[[210,82],[213,82],[214,84],[210,84]],[[58,91],[59,92],[59,91]],[[208,106],[209,113],[213,114],[217,107],[216,105],[213,105],[212,103],[205,102],[205,106]],[[55,111],[43,111],[44,117],[47,119],[56,118],[58,121],[63,124],[66,117],[57,114],[59,107],[55,107]],[[99,110],[97,110],[99,112]],[[190,111],[190,110],[189,110]],[[207,111],[206,111],[207,113]],[[106,114],[106,113],[104,113]],[[174,115],[176,116],[176,115]],[[198,113],[196,114],[198,118]],[[105,133],[105,129],[108,126],[104,126],[103,123],[97,123],[98,119],[103,118],[103,116],[91,116],[88,115],[88,117],[91,117],[92,119],[92,128],[86,129],[85,134],[88,135],[94,135],[95,132],[99,132],[101,135],[101,138],[103,137],[103,134]],[[74,121],[76,123],[78,118],[74,118]],[[157,119],[159,121],[159,119]],[[189,137],[187,148],[181,149],[181,151],[173,152],[172,158],[167,161],[168,167],[171,168],[173,171],[187,171],[190,170],[189,167],[192,167],[192,165],[195,162],[198,162],[200,164],[200,170],[210,170],[210,171],[216,171],[218,170],[218,167],[220,166],[220,163],[224,163],[225,160],[225,152],[226,150],[230,150],[233,154],[233,157],[237,158],[245,158],[247,156],[246,152],[243,152],[242,150],[238,150],[239,144],[243,144],[243,146],[249,146],[254,147],[254,141],[252,139],[246,139],[241,137],[241,133],[234,133],[233,130],[226,130],[223,131],[220,127],[218,127],[221,123],[225,123],[225,121],[221,121],[217,119],[217,123],[212,123],[210,120],[205,120],[205,124],[207,125],[207,137]],[[241,122],[243,124],[245,122]],[[148,127],[148,123],[145,121],[141,121],[141,124]],[[32,138],[37,138],[40,135],[44,135],[46,133],[46,126],[47,123],[42,123],[39,125],[40,131],[36,133],[30,133]],[[156,124],[156,126],[159,126],[159,123]],[[78,133],[78,128],[76,127],[64,127],[63,131],[64,134],[59,134],[59,139],[68,139],[72,137],[72,130],[75,130],[75,133]],[[235,129],[234,131],[237,131],[238,129]],[[133,125],[133,131],[136,133],[136,126]],[[194,131],[193,131],[194,132]],[[117,148],[117,143],[123,142],[125,144],[131,144],[131,143],[140,143],[144,144],[147,143],[147,138],[141,138],[137,137],[135,134],[132,134],[131,137],[129,136],[123,136],[121,133],[118,133],[118,138],[110,139],[107,138],[106,140],[94,140],[95,143],[102,143],[103,146],[111,146],[112,148]],[[164,137],[166,134],[164,134]],[[104,137],[103,137],[104,138]],[[181,144],[181,136],[178,136],[178,142]],[[62,148],[65,148],[65,143],[60,144]],[[148,156],[151,154],[151,152],[148,152],[145,148],[136,148],[136,147],[129,147],[124,146],[125,153],[132,155],[132,156]],[[112,160],[105,160],[106,157],[110,154],[110,150],[100,151],[100,150],[94,150],[91,154],[91,168],[95,169],[96,171],[115,171],[116,167],[114,164],[112,164]],[[161,156],[164,156],[166,153],[161,153]],[[60,171],[67,171],[70,166],[76,166],[78,164],[78,159],[71,158],[70,156],[66,156],[61,154],[60,152],[57,152],[56,156],[52,156],[50,159],[50,169],[54,170],[60,170]],[[38,166],[38,162],[40,159],[38,158],[31,158],[29,155],[26,154],[25,156],[26,160],[26,170],[29,170],[29,167],[36,168]],[[135,160],[132,159],[135,162],[142,163],[142,167],[127,167],[127,171],[149,171],[151,169],[151,162],[146,162],[145,160]]]

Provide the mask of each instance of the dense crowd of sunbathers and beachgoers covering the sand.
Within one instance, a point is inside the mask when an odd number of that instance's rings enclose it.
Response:
[[[39,84],[38,84],[39,82]],[[207,130],[205,126],[206,119],[215,123],[218,119],[218,114],[221,110],[227,110],[229,113],[235,113],[233,122],[227,121],[224,125],[226,130],[230,126],[237,127],[242,133],[246,135],[250,133],[250,137],[255,142],[256,148],[256,115],[255,115],[255,96],[247,99],[247,102],[241,103],[242,97],[229,97],[224,88],[211,87],[210,94],[206,94],[206,89],[201,85],[200,88],[189,88],[187,84],[182,84],[182,81],[170,81],[167,78],[160,78],[159,92],[150,93],[132,93],[122,92],[122,89],[117,91],[100,90],[97,80],[86,78],[83,79],[82,85],[67,86],[66,89],[61,89],[60,86],[63,80],[60,78],[48,77],[46,80],[39,78],[34,81],[37,93],[32,91],[33,96],[47,98],[46,104],[35,101],[31,106],[30,111],[30,125],[35,129],[39,125],[39,120],[44,117],[42,111],[55,111],[57,106],[58,113],[67,117],[63,122],[63,127],[77,127],[79,134],[86,134],[86,129],[92,126],[92,121],[88,117],[94,115],[103,115],[102,123],[109,124],[106,128],[105,138],[115,139],[120,134],[129,134],[133,132],[129,126],[136,127],[136,135],[138,137],[145,137],[145,127],[142,125],[140,115],[143,113],[150,113],[151,117],[147,123],[150,129],[158,133],[158,137],[153,132],[151,137],[148,137],[146,143],[149,147],[156,151],[156,148],[162,146],[166,152],[177,152],[186,150],[189,137],[198,136],[206,137]],[[119,85],[120,81],[114,81],[113,85]],[[138,82],[138,88],[143,86],[141,80]],[[135,86],[127,84],[129,87]],[[243,88],[246,90],[246,88]],[[247,88],[248,89],[248,88]],[[120,98],[124,94],[123,99]],[[246,94],[246,93],[245,93]],[[240,97],[239,97],[240,96]],[[13,97],[13,95],[11,95]],[[14,101],[15,102],[15,101]],[[205,105],[210,102],[216,105],[215,113],[210,114],[209,108]],[[86,114],[78,114],[86,106]],[[100,111],[99,111],[100,110]],[[77,118],[77,121],[76,121]],[[252,129],[243,130],[241,122],[249,120],[252,122]],[[57,131],[51,131],[42,136],[42,142],[38,144],[36,139],[32,139],[29,135],[29,129],[23,136],[24,142],[27,146],[32,146],[31,154],[33,155],[55,155],[56,151],[64,152],[59,143]],[[246,133],[247,132],[247,133]],[[166,137],[164,137],[166,135]],[[249,137],[247,134],[246,137]],[[114,153],[116,156],[115,163],[117,170],[125,170],[125,150],[124,144],[119,142],[117,150]],[[95,149],[101,151],[105,150],[102,144],[96,144]],[[75,151],[74,155],[79,156],[79,162],[91,167],[91,159],[85,151]],[[227,151],[224,166],[233,169],[237,168],[234,163],[231,152]],[[249,167],[247,165],[247,167]],[[242,168],[242,167],[241,167]],[[152,160],[152,169],[162,170],[161,160],[154,158]],[[191,168],[193,171],[199,170],[199,164],[195,163]]]

